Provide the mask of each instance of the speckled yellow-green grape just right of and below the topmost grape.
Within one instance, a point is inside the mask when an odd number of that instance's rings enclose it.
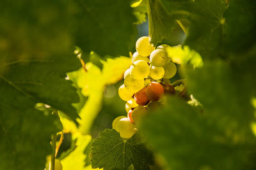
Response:
[[[156,49],[150,54],[150,62],[156,67],[163,67],[170,62],[170,60],[167,53],[161,49]]]

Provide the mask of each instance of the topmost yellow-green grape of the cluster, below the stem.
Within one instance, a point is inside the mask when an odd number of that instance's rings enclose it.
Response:
[[[150,44],[147,36],[143,36],[137,40],[136,50],[141,56],[147,57],[153,50],[155,50],[155,47],[154,45]]]

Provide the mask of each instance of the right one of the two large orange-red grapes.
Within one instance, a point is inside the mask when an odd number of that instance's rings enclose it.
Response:
[[[164,88],[160,83],[152,81],[146,89],[147,97],[150,101],[158,101],[164,94]]]

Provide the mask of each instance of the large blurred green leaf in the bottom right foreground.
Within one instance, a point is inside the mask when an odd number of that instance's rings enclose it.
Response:
[[[241,125],[243,120],[237,114],[246,118],[252,115],[205,111],[202,114],[172,98],[146,117],[139,129],[172,169],[255,169],[256,143],[251,120],[244,118],[247,121]],[[248,134],[246,138],[243,133],[232,131],[230,124],[243,128],[244,134]]]

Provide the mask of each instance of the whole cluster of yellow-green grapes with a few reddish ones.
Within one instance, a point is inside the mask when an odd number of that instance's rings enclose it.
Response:
[[[175,76],[177,67],[166,53],[167,46],[156,48],[147,36],[136,42],[131,67],[125,71],[124,84],[118,89],[120,98],[127,101],[127,117],[117,117],[112,123],[122,138],[131,138],[138,131],[136,123],[147,115],[149,108],[160,104],[163,94],[175,94],[169,79]]]

